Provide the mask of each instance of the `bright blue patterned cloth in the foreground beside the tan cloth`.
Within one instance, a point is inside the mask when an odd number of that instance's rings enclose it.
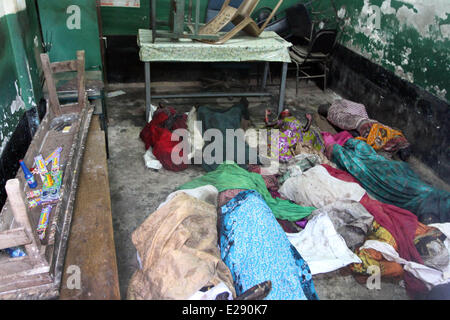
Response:
[[[308,265],[258,192],[240,192],[219,212],[221,257],[237,295],[271,280],[267,300],[319,299]]]

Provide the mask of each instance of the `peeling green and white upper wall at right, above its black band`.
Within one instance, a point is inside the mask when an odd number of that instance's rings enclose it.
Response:
[[[341,44],[450,101],[450,0],[334,2]]]

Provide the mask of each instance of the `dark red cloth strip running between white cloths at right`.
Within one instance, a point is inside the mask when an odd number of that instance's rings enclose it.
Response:
[[[323,164],[323,166],[331,176],[343,181],[359,184],[348,172],[335,169],[326,164]],[[414,245],[414,238],[418,226],[418,220],[415,214],[394,205],[371,199],[367,193],[362,197],[360,203],[373,215],[375,221],[394,237],[400,257],[408,261],[423,264],[422,257]],[[410,273],[405,272],[404,278],[406,289],[411,296],[427,291],[424,283]]]

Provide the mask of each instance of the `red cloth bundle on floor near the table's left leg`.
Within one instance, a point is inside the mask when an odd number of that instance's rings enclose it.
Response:
[[[152,147],[153,155],[158,159],[162,166],[171,171],[181,171],[187,168],[186,161],[181,164],[175,164],[172,161],[172,151],[176,145],[181,142],[178,136],[171,130],[186,128],[186,115],[176,117],[176,111],[173,108],[158,109],[153,115],[152,121],[147,123],[142,129],[139,137],[145,143],[145,149]],[[170,128],[165,125],[173,121]],[[170,129],[170,130],[169,130]],[[172,141],[172,136],[175,141]],[[180,150],[180,157],[183,157],[183,150]]]

